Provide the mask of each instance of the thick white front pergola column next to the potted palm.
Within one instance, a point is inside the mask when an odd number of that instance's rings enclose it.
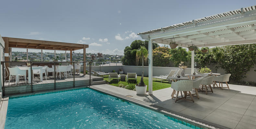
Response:
[[[153,49],[153,43],[152,39],[149,39],[148,42],[148,95],[153,94],[153,54],[152,50]]]

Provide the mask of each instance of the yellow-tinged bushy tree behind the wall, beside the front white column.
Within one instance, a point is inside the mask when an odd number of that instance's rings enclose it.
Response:
[[[168,67],[170,64],[171,55],[169,55],[170,48],[157,47],[153,50],[153,66]]]

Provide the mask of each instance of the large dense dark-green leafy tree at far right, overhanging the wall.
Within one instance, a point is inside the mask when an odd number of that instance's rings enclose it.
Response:
[[[231,74],[230,80],[234,82],[245,78],[256,64],[256,44],[216,47],[213,54],[218,67]]]

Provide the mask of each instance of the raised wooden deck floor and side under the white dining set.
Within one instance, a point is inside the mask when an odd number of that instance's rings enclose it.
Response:
[[[28,78],[27,82],[23,77],[20,77],[19,83],[16,84],[16,77],[13,77],[13,79],[5,81],[5,95],[13,95],[13,94],[23,94],[23,93],[31,93],[33,92],[39,92],[39,91],[46,91],[46,90],[54,90],[54,78],[52,76],[47,76],[47,80],[45,80],[45,76],[43,76],[43,81],[40,81],[39,76],[35,76],[32,83],[33,86],[31,87],[31,84],[28,84]],[[76,74],[75,75],[75,87],[79,86],[88,86],[90,84],[105,84],[105,81],[103,81],[102,77],[98,76],[91,76],[91,80],[89,79],[89,75],[83,75],[83,74]],[[57,78],[56,79],[56,89],[65,89],[65,88],[72,88],[74,87],[74,81],[73,81],[73,75],[67,76],[66,78]]]

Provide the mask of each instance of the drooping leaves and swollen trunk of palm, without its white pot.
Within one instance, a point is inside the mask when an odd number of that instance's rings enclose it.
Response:
[[[141,79],[140,83],[137,86],[146,86],[144,81],[143,81],[143,76],[144,76],[144,62],[147,62],[147,49],[145,46],[140,46],[140,48],[136,51],[136,64],[138,65],[139,63],[142,63],[142,74],[141,74]]]

